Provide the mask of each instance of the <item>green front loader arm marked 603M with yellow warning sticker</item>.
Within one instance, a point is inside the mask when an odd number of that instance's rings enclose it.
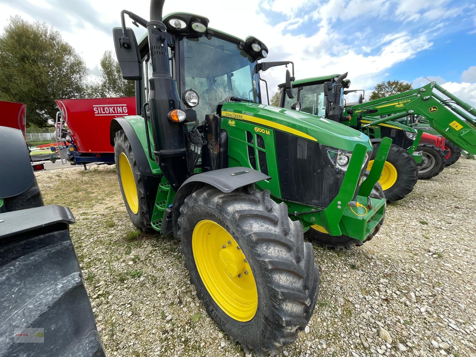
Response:
[[[444,99],[434,93],[435,89],[450,99]],[[357,125],[359,112],[364,110],[366,117],[390,115],[364,126],[377,125],[410,114],[420,115],[426,118],[430,126],[443,137],[471,154],[476,153],[476,110],[436,82],[386,98],[357,104],[351,108],[354,110],[350,119],[352,125]],[[369,112],[370,109],[374,110]]]

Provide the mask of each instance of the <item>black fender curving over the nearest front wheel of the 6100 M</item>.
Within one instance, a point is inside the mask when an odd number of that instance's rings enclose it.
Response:
[[[257,170],[245,167],[218,169],[190,176],[185,180],[182,186],[178,188],[172,206],[172,217],[167,219],[166,215],[164,215],[161,231],[162,234],[169,234],[173,230],[175,237],[177,237],[177,220],[178,216],[180,215],[180,207],[183,205],[185,198],[187,198],[188,195],[196,191],[198,188],[209,185],[218,188],[222,192],[228,193],[236,190],[237,188],[245,187],[265,179],[269,180],[271,177]],[[166,227],[164,227],[166,219],[167,223]],[[173,227],[170,227],[170,219],[172,220]]]

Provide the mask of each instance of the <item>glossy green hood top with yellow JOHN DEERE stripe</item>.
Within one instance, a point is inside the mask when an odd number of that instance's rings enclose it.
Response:
[[[305,112],[266,104],[225,102],[221,108],[221,116],[285,131],[337,149],[354,151],[356,144],[361,143],[366,145],[367,151],[372,150],[370,139],[364,133]]]

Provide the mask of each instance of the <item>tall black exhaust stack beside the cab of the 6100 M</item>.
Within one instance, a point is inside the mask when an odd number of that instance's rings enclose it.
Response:
[[[154,155],[172,188],[178,189],[188,177],[186,133],[183,123],[169,120],[169,112],[180,109],[177,82],[169,67],[169,47],[175,48],[173,35],[162,22],[165,0],[150,1],[147,23],[152,77],[149,79],[150,122],[154,137]]]

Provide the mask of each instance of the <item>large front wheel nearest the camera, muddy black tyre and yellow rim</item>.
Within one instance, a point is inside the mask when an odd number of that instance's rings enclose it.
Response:
[[[243,349],[277,356],[314,311],[319,270],[302,227],[269,191],[200,188],[178,218],[185,265],[208,315]]]

